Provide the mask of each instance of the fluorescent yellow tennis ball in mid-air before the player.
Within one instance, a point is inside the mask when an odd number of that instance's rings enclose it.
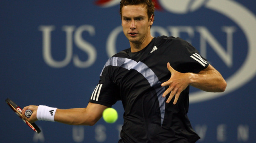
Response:
[[[105,120],[105,122],[107,123],[115,123],[117,118],[118,118],[118,114],[116,112],[115,109],[113,108],[107,108],[103,111],[103,119]]]

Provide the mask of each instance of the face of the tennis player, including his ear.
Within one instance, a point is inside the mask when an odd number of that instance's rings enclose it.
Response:
[[[122,26],[126,38],[134,44],[142,44],[150,35],[153,15],[148,19],[144,4],[126,5],[122,8]]]

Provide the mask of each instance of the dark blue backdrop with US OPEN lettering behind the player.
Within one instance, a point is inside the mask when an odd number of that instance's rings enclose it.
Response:
[[[107,59],[129,48],[120,0],[2,0],[0,2],[1,142],[117,142],[115,124],[94,126],[36,122],[36,134],[4,102],[20,107],[86,107]],[[188,116],[202,143],[256,140],[256,1],[157,0],[152,35],[192,43],[223,75],[223,93],[191,89]]]

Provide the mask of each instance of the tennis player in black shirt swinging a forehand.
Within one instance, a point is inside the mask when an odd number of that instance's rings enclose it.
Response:
[[[108,59],[87,107],[27,106],[23,111],[33,114],[27,118],[22,112],[23,118],[94,125],[104,109],[121,100],[124,124],[118,143],[196,142],[200,137],[187,116],[189,86],[223,92],[226,81],[187,41],[151,36],[151,0],[122,0],[120,14],[131,47]]]

